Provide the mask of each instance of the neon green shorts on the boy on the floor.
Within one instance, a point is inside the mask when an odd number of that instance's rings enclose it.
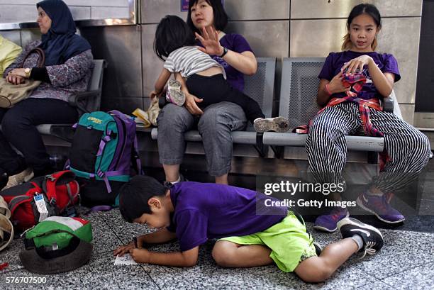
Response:
[[[280,223],[267,230],[242,237],[227,237],[220,240],[235,242],[239,245],[264,245],[272,252],[269,257],[283,272],[293,272],[300,262],[316,256],[313,238],[306,233],[306,226],[296,218],[292,211]]]

